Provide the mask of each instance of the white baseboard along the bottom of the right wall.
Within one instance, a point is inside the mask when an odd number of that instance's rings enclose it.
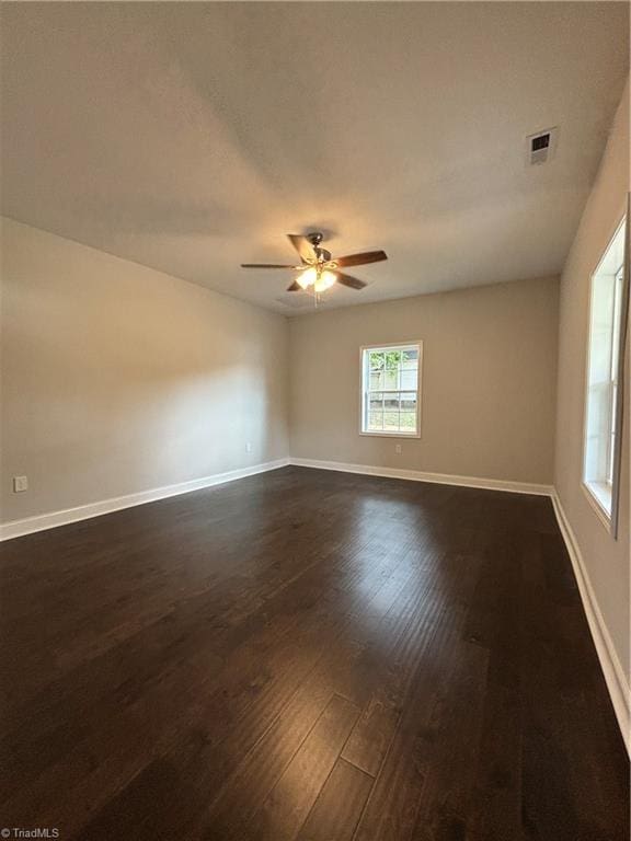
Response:
[[[554,506],[557,521],[561,529],[565,545],[567,546],[567,554],[570,555],[572,567],[574,568],[574,576],[576,578],[576,584],[578,585],[583,608],[585,610],[585,615],[587,617],[587,623],[589,624],[592,638],[594,640],[596,653],[600,660],[600,668],[605,676],[616,717],[618,718],[618,725],[622,733],[622,739],[624,740],[629,756],[631,756],[631,688],[629,687],[629,680],[620,664],[616,648],[613,647],[613,642],[605,623],[605,619],[603,618],[600,608],[598,607],[598,600],[596,599],[596,594],[592,587],[592,581],[589,580],[589,575],[585,562],[583,561],[578,542],[572,531],[572,527],[565,516],[565,511],[563,510],[563,506],[561,505],[557,492],[552,494],[552,505]]]

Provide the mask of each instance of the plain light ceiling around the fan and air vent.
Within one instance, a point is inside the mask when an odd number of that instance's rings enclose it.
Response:
[[[627,3],[3,3],[2,210],[279,312],[286,232],[382,247],[329,307],[558,273]],[[525,138],[559,127],[554,159]],[[284,302],[285,301],[285,302]]]

